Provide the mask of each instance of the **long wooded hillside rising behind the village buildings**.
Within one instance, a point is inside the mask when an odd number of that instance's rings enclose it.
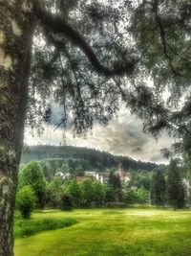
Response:
[[[54,158],[57,159],[54,159]],[[59,157],[59,158],[58,158]],[[81,166],[85,171],[99,170],[100,164],[103,169],[117,168],[122,163],[124,170],[148,170],[151,171],[156,164],[136,161],[129,157],[112,155],[104,151],[96,151],[86,148],[72,146],[31,146],[30,151],[22,154],[22,162],[29,162],[32,159],[43,160],[51,165],[51,172],[54,175],[57,168],[68,165],[72,171]],[[56,164],[59,163],[58,165]],[[65,170],[63,168],[63,170]],[[52,175],[52,177],[53,177]]]

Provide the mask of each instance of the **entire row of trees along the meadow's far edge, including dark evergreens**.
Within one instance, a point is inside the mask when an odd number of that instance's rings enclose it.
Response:
[[[73,207],[128,206],[134,203],[152,203],[157,207],[181,209],[189,203],[189,194],[180,176],[179,162],[171,160],[167,173],[161,169],[153,174],[139,173],[129,183],[121,182],[115,169],[108,170],[107,184],[93,177],[76,180],[83,170],[64,179],[54,176],[46,180],[42,166],[33,160],[19,174],[16,199],[23,217],[29,218],[34,207],[55,207],[62,210]],[[79,175],[84,177],[84,175]]]

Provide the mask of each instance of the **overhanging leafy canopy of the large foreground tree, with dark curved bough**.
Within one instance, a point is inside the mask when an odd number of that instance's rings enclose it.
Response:
[[[63,109],[58,127],[81,134],[94,122],[106,125],[122,100],[144,131],[167,129],[182,148],[191,134],[190,3],[131,2],[32,1],[28,124],[50,120],[53,96]]]

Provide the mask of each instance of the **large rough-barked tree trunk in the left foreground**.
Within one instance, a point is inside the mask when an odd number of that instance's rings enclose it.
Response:
[[[13,255],[12,222],[32,52],[32,7],[0,0],[0,256]]]

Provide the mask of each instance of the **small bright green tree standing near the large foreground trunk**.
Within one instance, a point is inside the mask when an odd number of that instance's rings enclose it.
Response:
[[[25,186],[18,191],[16,197],[16,207],[21,212],[24,219],[30,218],[32,210],[35,207],[35,200],[36,198],[31,186]]]

